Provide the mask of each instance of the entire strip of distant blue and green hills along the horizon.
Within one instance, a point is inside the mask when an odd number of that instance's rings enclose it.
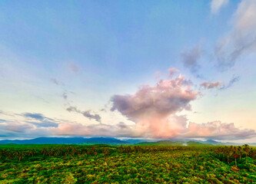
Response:
[[[119,140],[113,137],[38,137],[32,140],[0,140],[0,144],[108,144],[108,145],[172,145],[172,146],[202,146],[202,145],[242,145],[238,143],[221,143],[215,140]],[[256,143],[251,143],[256,146]]]

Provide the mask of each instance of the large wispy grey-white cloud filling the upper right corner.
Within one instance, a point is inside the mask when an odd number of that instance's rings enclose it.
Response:
[[[222,71],[233,67],[245,54],[256,52],[256,1],[241,1],[233,15],[232,26],[232,30],[219,39],[214,50]]]

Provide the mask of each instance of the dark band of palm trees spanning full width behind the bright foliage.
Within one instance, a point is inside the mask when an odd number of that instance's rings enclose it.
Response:
[[[255,159],[256,149],[245,144],[244,146],[78,146],[78,145],[56,145],[56,146],[38,146],[38,147],[6,147],[0,148],[0,159],[18,160],[35,158],[35,157],[67,157],[67,156],[97,156],[102,154],[108,156],[119,153],[161,153],[188,150],[193,151],[194,156],[199,158],[201,154],[213,154],[221,161],[231,163],[233,160],[237,166],[237,160],[245,158],[246,163],[248,156]]]

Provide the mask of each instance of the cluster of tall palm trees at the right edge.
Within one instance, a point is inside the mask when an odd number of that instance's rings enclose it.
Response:
[[[248,162],[248,157],[251,159],[256,158],[256,149],[244,144],[243,146],[218,146],[214,148],[214,156],[219,159],[226,159],[228,163],[232,162],[234,159],[235,166],[238,166],[238,159],[245,157],[245,162]]]

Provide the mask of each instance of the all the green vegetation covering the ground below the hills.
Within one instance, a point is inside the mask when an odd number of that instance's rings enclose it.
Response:
[[[0,146],[0,183],[256,183],[244,146]]]

